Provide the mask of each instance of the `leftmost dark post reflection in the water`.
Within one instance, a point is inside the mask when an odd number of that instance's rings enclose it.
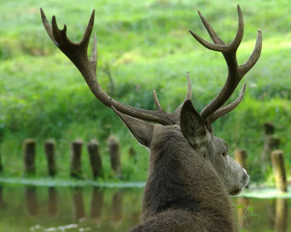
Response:
[[[24,198],[27,207],[27,212],[31,216],[38,215],[38,202],[35,186],[25,186],[24,188]]]

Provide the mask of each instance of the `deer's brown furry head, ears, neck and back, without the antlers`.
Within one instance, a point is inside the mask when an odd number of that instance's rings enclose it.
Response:
[[[114,110],[150,150],[141,224],[130,232],[237,231],[228,195],[240,193],[248,176],[222,155],[226,142],[213,137],[193,110],[186,101],[181,126],[150,124]]]

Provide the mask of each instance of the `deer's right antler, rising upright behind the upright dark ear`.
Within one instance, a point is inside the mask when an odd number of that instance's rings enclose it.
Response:
[[[241,44],[244,29],[243,29],[242,11],[239,5],[237,6],[237,9],[238,9],[238,15],[239,15],[238,30],[237,30],[234,40],[229,45],[226,45],[221,40],[221,38],[217,35],[217,33],[213,30],[213,28],[210,26],[208,21],[203,17],[203,15],[199,11],[198,11],[198,14],[206,30],[208,31],[212,41],[214,42],[214,44],[210,44],[209,42],[207,42],[206,40],[202,39],[200,36],[195,34],[193,31],[190,31],[190,33],[194,36],[194,38],[206,48],[213,51],[222,52],[226,60],[227,67],[228,67],[228,75],[227,75],[226,83],[223,86],[222,90],[217,94],[217,96],[213,99],[213,101],[210,102],[210,104],[206,106],[200,113],[205,124],[209,128],[210,128],[210,125],[216,119],[230,112],[231,110],[233,110],[240,104],[245,92],[246,83],[244,83],[242,91],[240,95],[238,96],[238,98],[234,102],[230,103],[229,105],[222,107],[226,103],[226,101],[229,99],[231,94],[235,91],[242,77],[259,60],[259,56],[262,49],[262,34],[261,34],[261,31],[258,30],[256,45],[251,56],[248,58],[246,62],[238,66],[238,62],[236,59],[236,52],[237,52],[238,47]]]

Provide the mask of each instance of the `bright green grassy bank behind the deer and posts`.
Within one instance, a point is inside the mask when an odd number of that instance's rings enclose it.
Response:
[[[172,111],[187,91],[186,72],[193,84],[198,111],[223,86],[227,67],[221,53],[207,50],[189,33],[210,41],[197,10],[209,20],[221,38],[230,43],[237,30],[237,3],[244,16],[244,37],[238,50],[239,64],[246,61],[262,30],[259,62],[243,78],[245,97],[238,108],[217,120],[215,135],[233,151],[248,151],[253,181],[259,174],[263,124],[272,122],[281,138],[286,167],[291,173],[291,4],[287,0],[87,0],[0,1],[0,154],[2,176],[23,173],[21,144],[35,138],[37,176],[47,175],[43,141],[57,141],[58,177],[68,178],[69,143],[76,138],[100,141],[105,179],[112,179],[106,139],[115,134],[121,142],[125,180],[144,181],[148,153],[137,145],[128,129],[109,108],[90,92],[77,68],[52,43],[40,17],[42,7],[50,21],[56,15],[65,23],[71,40],[79,42],[92,10],[98,43],[97,78],[102,88],[128,105],[155,109],[156,90],[163,108]],[[93,36],[92,36],[93,37]],[[92,45],[92,43],[91,43]],[[91,48],[90,45],[90,48]],[[108,70],[113,78],[111,83]],[[243,83],[243,81],[242,81]],[[242,88],[239,85],[230,100]],[[229,101],[230,102],[230,101]],[[137,151],[133,165],[128,149]],[[83,173],[91,178],[86,147]]]

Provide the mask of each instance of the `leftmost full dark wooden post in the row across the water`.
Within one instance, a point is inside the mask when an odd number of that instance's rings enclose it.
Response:
[[[35,174],[35,140],[25,139],[23,142],[24,173],[25,175]]]

